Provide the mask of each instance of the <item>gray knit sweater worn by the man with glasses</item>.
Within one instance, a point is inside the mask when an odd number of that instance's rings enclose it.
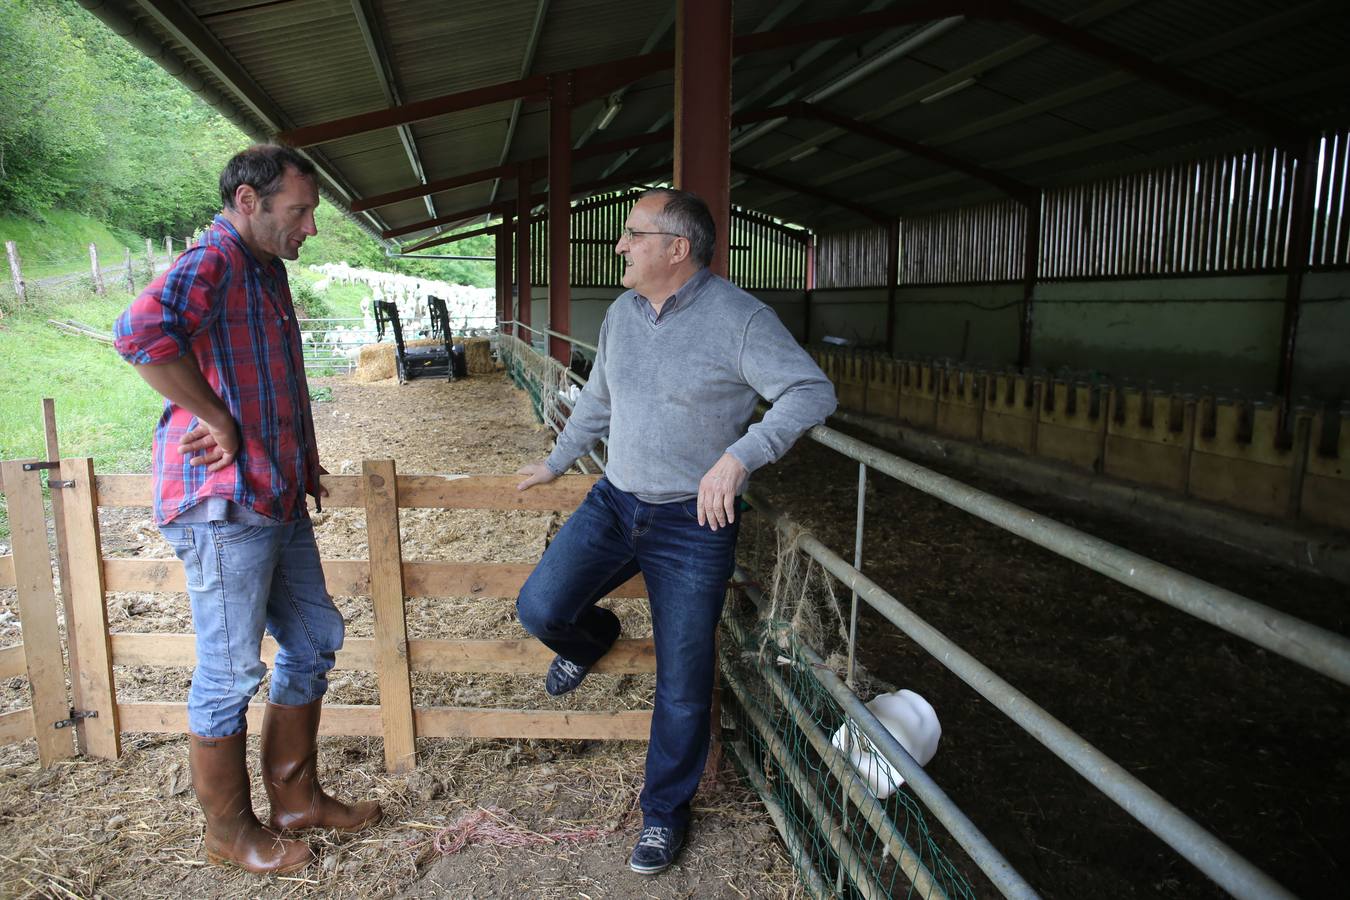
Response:
[[[705,270],[659,324],[645,309],[629,290],[606,312],[590,381],[548,455],[554,472],[608,436],[614,487],[648,503],[684,501],[722,453],[753,472],[834,412],[819,367],[772,309],[730,282]],[[772,407],[749,425],[760,397]]]

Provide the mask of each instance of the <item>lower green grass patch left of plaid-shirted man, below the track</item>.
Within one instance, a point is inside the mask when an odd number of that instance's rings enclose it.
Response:
[[[49,318],[112,329],[130,294],[38,294],[0,318],[0,459],[46,459],[42,399],[55,401],[61,455],[92,456],[99,472],[150,471],[163,401],[108,344],[65,335]],[[0,537],[8,537],[0,513]]]

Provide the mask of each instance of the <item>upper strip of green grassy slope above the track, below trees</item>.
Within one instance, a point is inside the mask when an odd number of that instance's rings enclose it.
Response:
[[[119,266],[131,247],[138,263],[146,255],[146,242],[135,235],[116,233],[100,221],[65,209],[50,209],[40,219],[0,216],[0,243],[12,240],[19,246],[26,281],[89,271],[89,244],[99,246],[100,266]],[[174,242],[181,244],[182,240]],[[155,247],[163,254],[163,240]],[[4,282],[9,283],[8,263]]]

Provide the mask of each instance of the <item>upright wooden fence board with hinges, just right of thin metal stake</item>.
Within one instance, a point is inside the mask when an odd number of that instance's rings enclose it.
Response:
[[[80,653],[80,687],[89,714],[84,721],[84,750],[116,760],[122,754],[117,725],[117,690],[112,680],[112,641],[108,637],[108,606],[103,582],[103,549],[99,542],[99,495],[92,459],[61,460],[61,478],[69,482],[65,495],[66,537],[70,541],[70,604],[74,621],[68,633]]]

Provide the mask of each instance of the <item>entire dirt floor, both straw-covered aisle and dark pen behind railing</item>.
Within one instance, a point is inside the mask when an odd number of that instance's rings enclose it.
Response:
[[[333,472],[394,457],[401,472],[509,472],[547,452],[525,395],[502,376],[454,385],[317,379],[320,449]],[[328,390],[323,390],[328,389]],[[872,440],[872,439],[868,439]],[[872,440],[872,443],[876,443]],[[972,476],[967,472],[949,472]],[[803,441],[755,488],[852,557],[856,463]],[[975,479],[983,487],[990,483]],[[1015,502],[1339,633],[1343,586],[1293,575],[1203,538],[1153,533],[1080,506],[999,487]],[[316,518],[327,557],[364,552],[358,510]],[[404,511],[409,559],[536,559],[556,517]],[[139,510],[109,510],[105,552],[167,556]],[[744,538],[742,538],[744,540]],[[4,548],[0,548],[4,552]],[[1350,846],[1350,694],[1119,584],[884,476],[868,488],[864,571],[1034,702],[1200,824],[1305,897],[1341,897]],[[846,594],[844,594],[846,599]],[[339,598],[352,636],[369,602]],[[0,591],[0,645],[19,640],[14,592]],[[620,604],[630,636],[641,603]],[[115,630],[185,631],[186,600],[113,595]],[[520,637],[509,600],[409,600],[414,636]],[[1065,764],[998,714],[880,617],[864,615],[860,654],[882,683],[926,696],[942,722],[929,772],[1046,897],[1223,896]],[[182,699],[188,671],[119,669],[127,699]],[[416,677],[416,676],[414,676]],[[651,684],[593,676],[552,700],[537,679],[416,677],[420,704],[643,708]],[[23,706],[22,679],[0,684]],[[331,699],[373,703],[373,675],[335,673]],[[639,816],[643,745],[566,741],[418,743],[410,776],[382,770],[378,739],[323,742],[347,796],[377,796],[387,816],[366,835],[320,838],[319,865],[289,880],[207,868],[186,776],[169,735],[126,735],[117,762],[38,769],[31,742],[0,749],[3,896],[799,896],[753,795],[724,765],[697,800],[680,865],[640,878],[624,865]],[[254,746],[254,752],[256,748]],[[261,785],[255,797],[265,808]],[[471,819],[490,828],[446,853]],[[508,846],[508,845],[524,846]],[[994,891],[944,843],[976,884]],[[1339,850],[1336,847],[1341,847]]]

